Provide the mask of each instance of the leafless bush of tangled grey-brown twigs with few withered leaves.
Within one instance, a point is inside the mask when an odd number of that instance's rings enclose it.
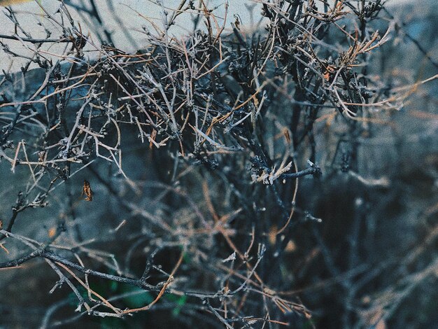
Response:
[[[1,77],[1,172],[14,182],[2,191],[2,274],[20,267],[26,280],[44,266],[34,258],[55,272],[48,290],[62,296],[38,318],[43,328],[138,313],[190,327],[302,328],[327,311],[299,287],[334,284],[342,328],[385,323],[436,276],[437,258],[364,299],[375,278],[398,277],[397,262],[425,249],[383,261],[370,245],[369,204],[380,207],[393,181],[374,176],[385,155],[370,163],[363,145],[437,76],[406,85],[375,71],[373,54],[400,29],[383,1],[255,1],[251,29],[202,0],[164,2],[135,53],[113,45],[94,1],[82,10],[97,41],[64,1],[56,15],[41,6],[59,38],[34,38],[8,9],[17,31],[1,36],[3,52],[22,57],[8,45],[19,42],[33,55]],[[175,34],[188,15],[192,33]],[[52,56],[50,45],[63,50]]]

